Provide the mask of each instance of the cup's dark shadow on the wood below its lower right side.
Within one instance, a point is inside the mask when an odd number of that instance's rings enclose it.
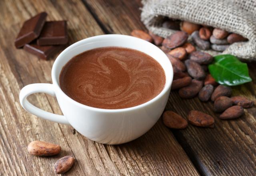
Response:
[[[129,154],[126,160],[151,162],[157,168],[168,167],[169,164],[183,164],[188,158],[168,128],[158,120],[146,134],[126,144],[114,145],[119,154]],[[175,164],[176,163],[176,164]],[[149,164],[149,163],[148,163]]]

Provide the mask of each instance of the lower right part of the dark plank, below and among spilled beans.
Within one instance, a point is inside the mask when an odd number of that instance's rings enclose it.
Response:
[[[254,73],[250,72],[251,75]],[[253,83],[233,88],[233,95],[243,95],[255,101],[255,78]],[[252,91],[251,91],[252,90]],[[187,116],[189,110],[202,110],[215,118],[213,129],[189,126],[183,131],[173,131],[187,151],[198,170],[204,175],[255,175],[256,174],[256,108],[245,110],[236,120],[220,120],[213,113],[212,103],[202,103],[198,98],[179,100],[177,92],[170,96],[167,109]],[[176,104],[174,104],[174,102]]]

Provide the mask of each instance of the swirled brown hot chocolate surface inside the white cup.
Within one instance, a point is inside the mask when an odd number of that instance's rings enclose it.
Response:
[[[60,88],[73,100],[102,109],[148,102],[164,88],[163,68],[152,57],[129,48],[104,47],[74,56],[60,73]]]

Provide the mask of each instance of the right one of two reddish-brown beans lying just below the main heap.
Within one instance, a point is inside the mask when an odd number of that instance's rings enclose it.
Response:
[[[188,114],[188,122],[200,127],[214,127],[214,118],[203,112],[192,110]]]

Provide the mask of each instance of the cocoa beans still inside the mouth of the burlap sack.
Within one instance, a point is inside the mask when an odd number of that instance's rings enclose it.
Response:
[[[162,27],[187,32],[191,35],[194,44],[201,50],[212,49],[222,52],[226,50],[230,44],[247,41],[246,38],[239,34],[230,33],[219,28],[212,28],[210,26],[170,18],[164,20]]]

